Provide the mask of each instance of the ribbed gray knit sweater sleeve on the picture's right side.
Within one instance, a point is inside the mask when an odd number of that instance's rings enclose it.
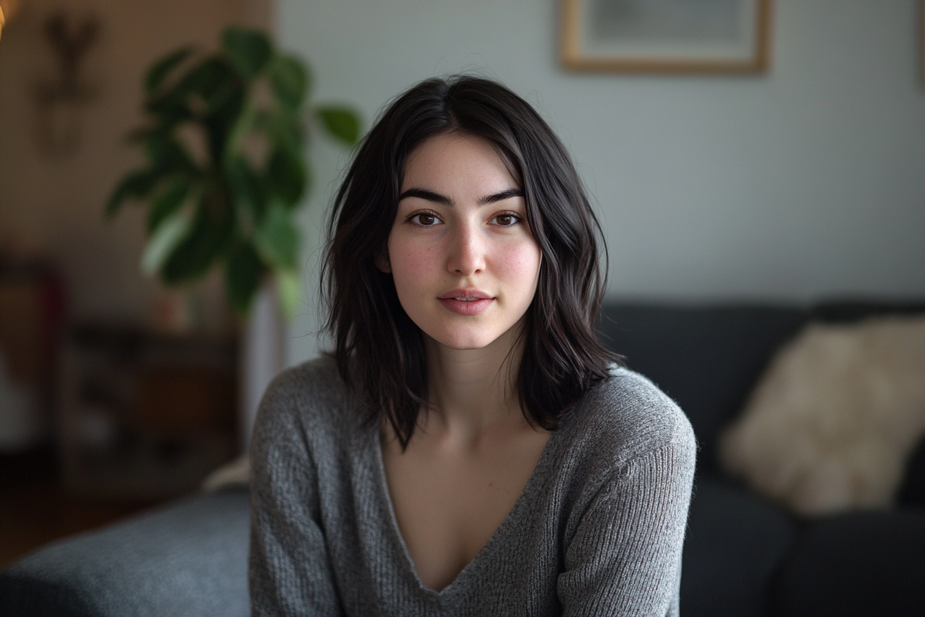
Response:
[[[695,450],[685,424],[613,470],[566,549],[563,615],[676,617]]]

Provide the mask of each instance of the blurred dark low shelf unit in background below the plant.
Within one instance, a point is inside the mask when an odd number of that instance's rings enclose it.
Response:
[[[71,491],[166,499],[235,455],[236,339],[112,323],[72,328],[59,410]]]

